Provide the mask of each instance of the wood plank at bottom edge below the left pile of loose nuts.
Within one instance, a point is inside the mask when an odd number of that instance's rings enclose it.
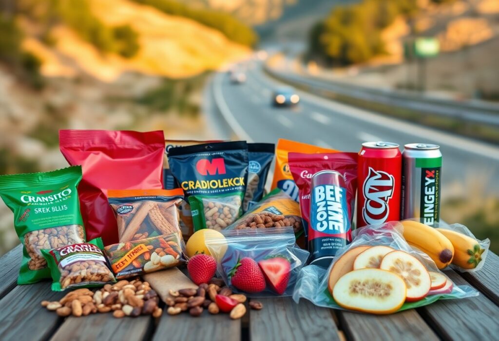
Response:
[[[111,313],[91,314],[67,318],[50,340],[146,340],[152,328],[153,318],[150,316],[116,319]]]

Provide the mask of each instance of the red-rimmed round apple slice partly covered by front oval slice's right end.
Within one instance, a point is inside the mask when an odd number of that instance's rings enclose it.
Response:
[[[404,279],[407,285],[407,302],[425,298],[432,286],[428,270],[416,257],[407,252],[397,250],[387,253],[379,268],[391,271]]]

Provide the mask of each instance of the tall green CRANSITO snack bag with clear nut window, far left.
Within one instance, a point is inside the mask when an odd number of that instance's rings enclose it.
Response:
[[[0,176],[0,196],[14,214],[22,248],[17,284],[50,278],[41,249],[85,242],[76,186],[81,166]]]

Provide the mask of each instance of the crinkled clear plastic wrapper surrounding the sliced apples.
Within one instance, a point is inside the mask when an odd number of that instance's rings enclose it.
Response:
[[[327,270],[316,265],[308,265],[301,269],[293,292],[293,300],[298,303],[300,298],[304,298],[317,306],[348,311],[348,309],[340,307],[329,293],[329,273],[334,263],[345,252],[351,248],[361,245],[384,245],[395,250],[405,251],[421,261],[429,271],[443,274],[428,255],[409,246],[403,237],[403,228],[404,227],[399,222],[388,222],[383,225],[371,225],[356,229],[354,231],[354,239],[352,243],[336,253],[335,260],[331,263]],[[427,296],[416,302],[406,302],[399,310],[397,310],[397,312],[426,306],[439,299],[459,299],[478,295],[479,292],[473,287],[469,285],[456,285],[454,283],[452,292]]]

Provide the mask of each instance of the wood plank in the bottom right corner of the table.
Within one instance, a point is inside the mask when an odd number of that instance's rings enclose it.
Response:
[[[468,284],[454,271],[445,271],[455,284]],[[499,307],[484,295],[439,300],[418,311],[444,340],[497,340]]]

